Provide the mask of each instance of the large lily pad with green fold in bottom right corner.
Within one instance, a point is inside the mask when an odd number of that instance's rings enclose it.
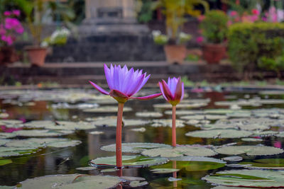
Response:
[[[243,186],[251,188],[283,188],[284,171],[268,170],[231,170],[219,171],[205,176],[205,181],[218,185]]]

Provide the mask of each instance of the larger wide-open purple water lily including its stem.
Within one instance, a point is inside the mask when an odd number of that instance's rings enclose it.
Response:
[[[104,74],[106,75],[107,84],[109,85],[110,92],[105,91],[103,88],[89,81],[94,88],[96,88],[100,93],[112,96],[116,101],[119,102],[119,108],[117,112],[117,122],[116,122],[116,167],[122,167],[122,153],[121,153],[121,130],[122,130],[122,115],[124,110],[124,103],[130,98],[135,98],[139,100],[148,100],[161,96],[161,93],[156,93],[150,96],[143,97],[133,97],[141,88],[146,84],[150,75],[146,76],[142,74],[142,70],[134,71],[133,68],[127,69],[126,66],[121,68],[121,66],[108,68],[104,64]]]

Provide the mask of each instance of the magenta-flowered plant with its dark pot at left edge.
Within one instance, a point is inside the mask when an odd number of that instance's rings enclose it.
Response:
[[[18,21],[20,11],[5,11],[0,22],[0,64],[8,64],[18,59],[13,42],[23,33],[23,26]]]

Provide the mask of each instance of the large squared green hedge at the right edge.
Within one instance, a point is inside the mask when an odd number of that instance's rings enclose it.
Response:
[[[233,66],[243,72],[255,69],[259,63],[271,64],[282,53],[283,23],[235,23],[229,28],[229,57]],[[270,67],[273,67],[271,65]]]

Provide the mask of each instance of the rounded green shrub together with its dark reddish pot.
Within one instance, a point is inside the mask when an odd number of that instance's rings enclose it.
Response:
[[[217,64],[226,54],[228,17],[223,11],[208,11],[200,23],[206,42],[202,46],[203,57],[209,64]]]

